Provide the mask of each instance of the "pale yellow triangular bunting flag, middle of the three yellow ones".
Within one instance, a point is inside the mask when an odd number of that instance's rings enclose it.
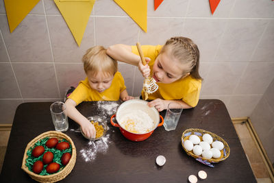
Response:
[[[95,0],[54,0],[80,46]]]

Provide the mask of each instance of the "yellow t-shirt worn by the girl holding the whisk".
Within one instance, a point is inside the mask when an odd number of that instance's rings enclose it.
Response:
[[[149,62],[149,68],[151,69],[151,75],[153,70],[153,64],[158,54],[162,49],[162,45],[151,46],[143,45],[142,51],[145,57],[151,59]],[[132,53],[139,55],[136,46],[132,46]],[[159,88],[155,93],[149,94],[148,100],[164,99],[175,100],[182,99],[189,106],[195,107],[199,101],[199,95],[201,91],[201,80],[193,78],[191,75],[177,80],[170,84],[157,83]],[[142,91],[142,98],[145,98],[144,91]]]

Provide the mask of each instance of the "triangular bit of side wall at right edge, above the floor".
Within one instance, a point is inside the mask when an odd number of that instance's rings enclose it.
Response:
[[[253,110],[250,119],[271,162],[274,163],[274,80]]]

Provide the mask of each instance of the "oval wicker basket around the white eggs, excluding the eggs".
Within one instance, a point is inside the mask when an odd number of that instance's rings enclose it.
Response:
[[[188,140],[189,136],[191,134],[196,134],[197,136],[199,136],[200,140],[202,141],[202,136],[203,134],[210,134],[213,138],[213,141],[221,141],[224,145],[223,150],[221,150],[221,157],[220,158],[203,158],[202,156],[197,156],[195,154],[193,154],[192,151],[188,151],[186,150],[186,148],[184,147],[184,141]],[[192,156],[193,158],[199,158],[201,160],[206,160],[208,162],[220,162],[225,160],[229,154],[230,154],[230,149],[229,146],[227,145],[227,143],[223,140],[223,138],[221,138],[220,136],[217,136],[216,134],[212,133],[212,132],[208,132],[206,130],[201,130],[201,129],[197,129],[197,128],[190,128],[188,130],[185,130],[184,133],[182,134],[182,146],[184,148],[184,150],[186,151],[186,154],[188,154],[188,156]]]

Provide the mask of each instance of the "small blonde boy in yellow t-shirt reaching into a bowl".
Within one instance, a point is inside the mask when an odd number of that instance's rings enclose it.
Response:
[[[134,97],[127,94],[123,76],[117,71],[117,61],[107,55],[104,47],[88,49],[82,61],[87,77],[66,99],[66,110],[68,116],[82,127],[84,134],[94,138],[95,127],[75,106],[82,101],[126,101]]]

